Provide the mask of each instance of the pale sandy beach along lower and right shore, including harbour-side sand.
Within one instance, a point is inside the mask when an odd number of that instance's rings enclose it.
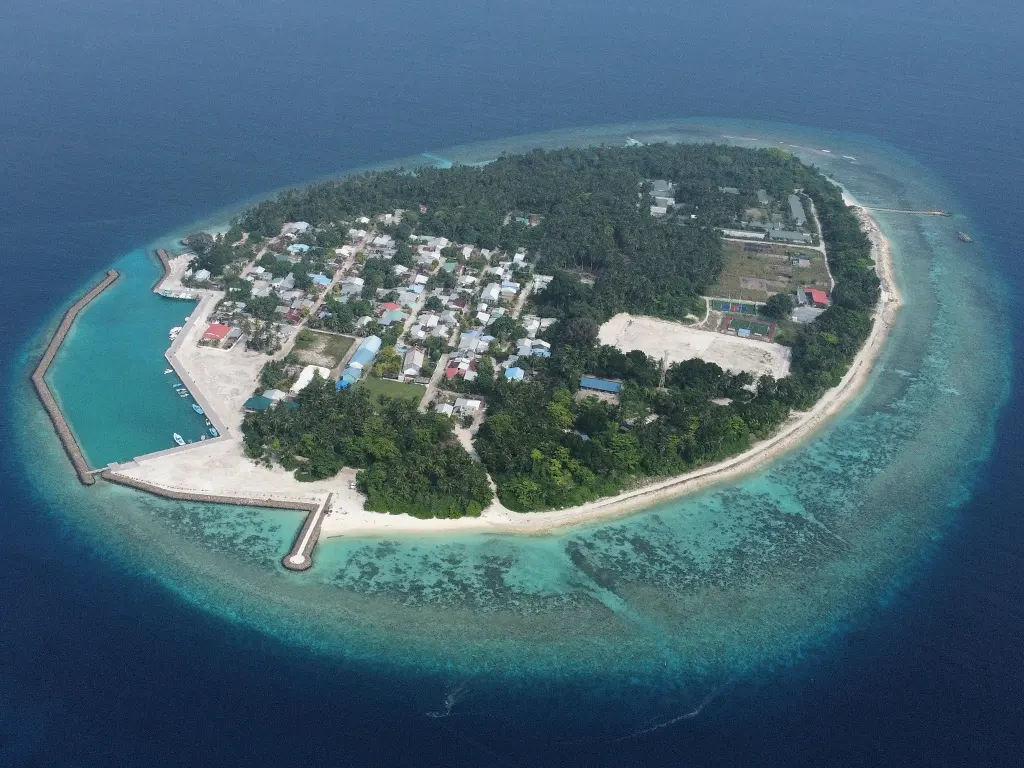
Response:
[[[241,379],[252,375],[250,365],[231,366],[228,375],[238,383],[220,381],[220,374],[203,365],[214,350],[184,352],[182,362],[194,372],[197,384],[213,407],[221,411],[228,422],[230,437],[214,444],[189,446],[187,451],[122,465],[115,475],[134,479],[177,493],[210,495],[220,499],[280,499],[289,502],[319,502],[328,493],[334,494],[330,513],[324,520],[321,537],[425,536],[438,534],[543,534],[589,521],[623,516],[649,508],[714,483],[727,481],[752,472],[799,445],[816,429],[838,414],[861,390],[892,330],[900,306],[900,296],[893,278],[892,250],[878,222],[848,195],[847,203],[857,209],[858,217],[872,246],[876,268],[882,282],[881,298],[874,310],[871,333],[840,384],[821,397],[815,406],[794,413],[772,437],[754,444],[742,454],[684,475],[649,483],[643,487],[602,499],[590,504],[550,512],[517,513],[500,502],[492,504],[479,517],[455,520],[421,520],[409,515],[367,512],[362,497],[349,487],[353,470],[344,470],[336,477],[315,483],[294,480],[280,468],[257,466],[245,458],[241,435],[230,429],[237,422]],[[197,309],[199,311],[199,309]],[[199,326],[200,323],[195,325]],[[225,354],[218,350],[220,354]],[[227,353],[229,354],[229,353]],[[243,355],[237,352],[240,357]],[[244,355],[248,357],[248,355]],[[242,360],[238,360],[242,362]],[[219,368],[219,367],[218,367]],[[230,384],[230,385],[229,385]],[[251,383],[249,384],[251,387]],[[247,387],[248,388],[248,387]],[[229,413],[230,412],[230,413]],[[213,442],[213,441],[211,441]],[[115,479],[117,479],[115,477]]]

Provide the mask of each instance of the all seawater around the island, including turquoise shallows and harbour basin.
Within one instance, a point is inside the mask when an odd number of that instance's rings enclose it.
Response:
[[[0,765],[1019,762],[1017,6],[6,15]],[[558,536],[328,542],[300,575],[294,513],[75,481],[27,372],[110,265],[51,374],[94,463],[202,426],[147,247],[354,168],[627,135],[781,143],[957,214],[880,214],[900,325],[799,451]]]

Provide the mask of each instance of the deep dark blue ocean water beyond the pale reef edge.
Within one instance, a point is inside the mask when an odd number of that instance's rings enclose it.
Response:
[[[260,193],[472,141],[700,115],[866,134],[919,160],[970,215],[981,300],[1008,309],[991,337],[1020,356],[1014,4],[5,5],[9,391],[30,339],[98,271]],[[242,604],[204,609],[104,547],[102,521],[83,519],[97,509],[66,514],[79,490],[55,489],[70,478],[5,417],[0,765],[1020,764],[1024,424],[1012,406],[991,416],[969,500],[901,589],[800,657],[666,692],[689,703],[650,722],[643,681],[488,687],[484,670],[460,692],[458,677],[306,650]],[[26,477],[33,462],[56,476]],[[268,540],[290,536],[266,519]],[[425,716],[450,693],[455,716]]]

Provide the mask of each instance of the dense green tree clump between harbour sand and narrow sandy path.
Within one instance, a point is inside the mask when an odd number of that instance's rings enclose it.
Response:
[[[270,378],[268,376],[268,378]],[[279,462],[299,480],[357,467],[367,509],[417,517],[478,515],[494,495],[483,466],[452,434],[452,422],[421,414],[417,402],[374,398],[365,389],[335,392],[315,378],[297,409],[246,417],[246,453]]]

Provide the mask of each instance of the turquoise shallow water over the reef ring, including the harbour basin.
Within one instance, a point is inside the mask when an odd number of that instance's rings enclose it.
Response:
[[[781,146],[866,205],[961,210],[886,144],[750,121],[603,126],[400,162],[481,163],[627,137]],[[13,397],[17,451],[36,468],[39,500],[97,555],[290,645],[440,680],[600,679],[700,700],[885,610],[927,568],[989,452],[1010,350],[983,239],[956,240],[971,228],[963,213],[878,218],[904,307],[863,392],[769,466],[624,519],[538,537],[328,540],[315,567],[296,574],[280,559],[298,513],[80,486],[24,384]],[[148,292],[156,272],[144,251],[118,268],[125,278],[82,314],[52,375],[94,463],[165,446],[190,414],[161,373],[167,328],[190,306]],[[44,340],[41,331],[37,348]]]

